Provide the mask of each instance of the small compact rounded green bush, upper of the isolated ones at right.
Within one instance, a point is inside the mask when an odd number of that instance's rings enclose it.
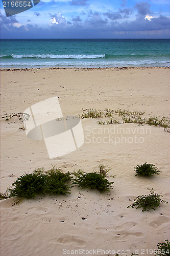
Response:
[[[161,171],[158,170],[157,167],[154,167],[154,164],[149,164],[149,163],[143,163],[141,165],[137,165],[136,167],[134,167],[135,172],[136,172],[136,176],[140,175],[140,176],[152,176],[154,174],[160,174]]]

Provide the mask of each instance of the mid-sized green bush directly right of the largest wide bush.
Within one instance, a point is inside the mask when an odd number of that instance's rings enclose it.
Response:
[[[112,188],[113,182],[109,182],[104,174],[97,172],[83,173],[83,171],[79,169],[74,175],[75,178],[72,183],[78,185],[78,187],[98,189],[100,193],[110,191]]]

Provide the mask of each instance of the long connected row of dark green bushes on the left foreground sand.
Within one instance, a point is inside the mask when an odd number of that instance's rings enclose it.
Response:
[[[1,193],[1,199],[11,197],[35,198],[37,195],[66,195],[70,194],[72,184],[81,187],[96,188],[101,193],[110,191],[112,182],[106,179],[111,168],[99,162],[99,172],[84,173],[82,170],[74,173],[63,173],[56,165],[45,171],[43,168],[34,170],[31,174],[23,174],[6,190]],[[112,176],[113,177],[113,176]],[[20,199],[15,202],[20,202]]]

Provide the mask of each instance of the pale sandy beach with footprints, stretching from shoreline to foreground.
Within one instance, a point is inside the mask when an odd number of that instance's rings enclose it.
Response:
[[[1,70],[1,193],[22,174],[51,164],[64,173],[93,172],[101,162],[115,175],[108,177],[114,182],[109,193],[73,187],[70,195],[23,199],[16,206],[13,198],[1,200],[2,256],[154,255],[157,243],[170,239],[169,133],[163,127],[81,119],[83,145],[50,159],[44,140],[28,139],[16,117],[2,118],[52,97],[58,97],[63,116],[107,108],[170,118],[169,75],[163,67]],[[144,162],[160,175],[135,176],[134,167]],[[149,194],[147,188],[168,204],[155,211],[127,208]]]

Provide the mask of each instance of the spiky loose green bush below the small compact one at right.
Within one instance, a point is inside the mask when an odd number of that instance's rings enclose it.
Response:
[[[156,207],[158,207],[160,205],[160,203],[168,203],[162,199],[160,199],[160,197],[162,197],[161,195],[158,195],[154,192],[154,189],[150,189],[148,188],[151,193],[149,195],[142,195],[142,196],[138,196],[135,200],[134,203],[132,205],[129,205],[128,208],[143,208],[142,211],[149,211],[149,210],[155,210]]]

